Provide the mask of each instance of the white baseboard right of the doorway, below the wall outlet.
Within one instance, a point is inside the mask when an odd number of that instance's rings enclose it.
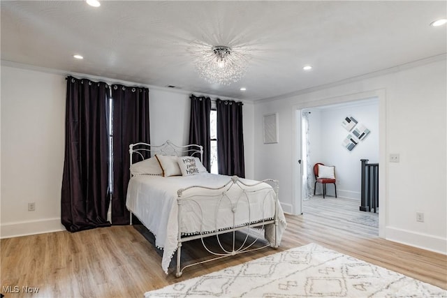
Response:
[[[447,255],[446,238],[393,227],[386,227],[385,234],[387,240]]]

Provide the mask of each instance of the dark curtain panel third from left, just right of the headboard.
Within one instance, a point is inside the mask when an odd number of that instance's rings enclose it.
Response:
[[[203,146],[203,165],[211,170],[210,112],[211,98],[191,94],[191,117],[189,122],[189,144]]]

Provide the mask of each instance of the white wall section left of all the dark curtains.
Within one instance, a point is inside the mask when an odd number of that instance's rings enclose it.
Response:
[[[1,68],[2,237],[62,228],[65,94],[61,75]]]

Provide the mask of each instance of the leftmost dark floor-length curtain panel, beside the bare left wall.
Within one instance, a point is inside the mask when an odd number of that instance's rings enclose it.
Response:
[[[108,84],[67,77],[61,223],[70,232],[110,226]]]

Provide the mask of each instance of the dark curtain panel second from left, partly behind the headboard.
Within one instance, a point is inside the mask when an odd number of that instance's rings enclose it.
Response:
[[[112,224],[128,225],[129,144],[150,143],[149,89],[112,85]],[[149,157],[149,156],[145,156]]]

